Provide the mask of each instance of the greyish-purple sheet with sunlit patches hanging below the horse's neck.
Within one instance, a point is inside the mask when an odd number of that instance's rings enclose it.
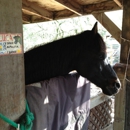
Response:
[[[32,130],[87,130],[90,82],[76,74],[27,86],[27,100],[35,120]]]

